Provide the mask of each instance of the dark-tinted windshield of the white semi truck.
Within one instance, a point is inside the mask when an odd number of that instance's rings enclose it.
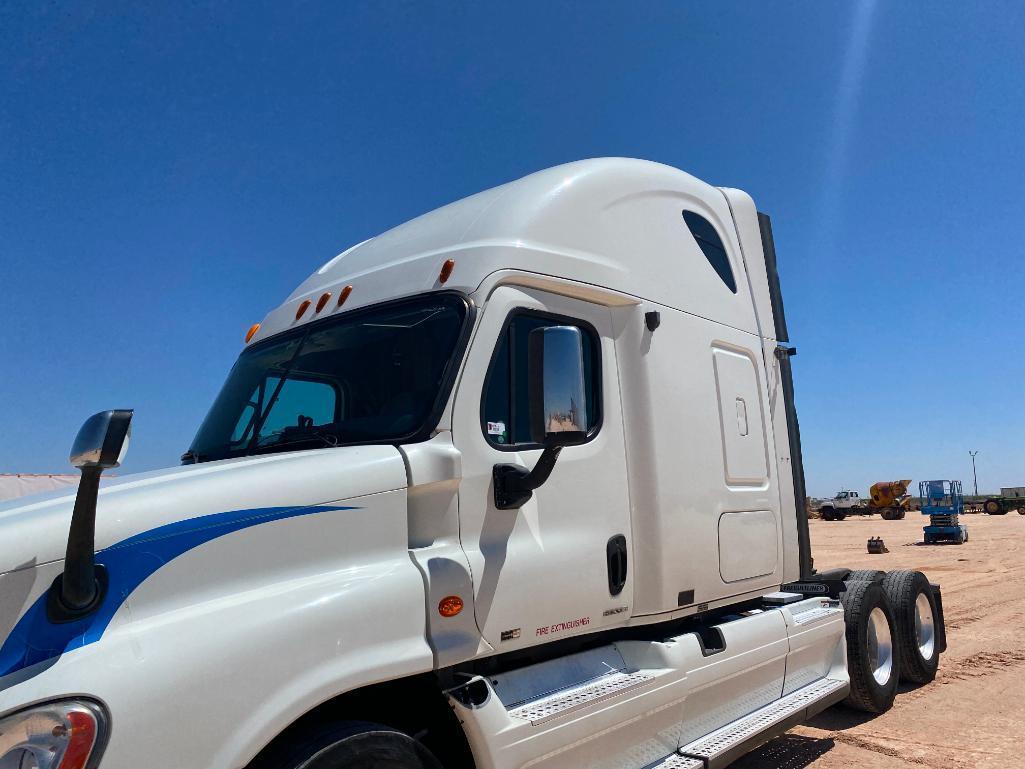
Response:
[[[182,461],[426,438],[466,317],[454,294],[346,313],[249,348]]]

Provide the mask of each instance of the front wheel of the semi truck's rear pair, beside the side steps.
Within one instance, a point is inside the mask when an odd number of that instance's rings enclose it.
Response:
[[[890,710],[900,682],[900,659],[894,654],[894,616],[877,582],[856,580],[840,594],[847,625],[847,666],[851,693],[844,700],[866,713]]]

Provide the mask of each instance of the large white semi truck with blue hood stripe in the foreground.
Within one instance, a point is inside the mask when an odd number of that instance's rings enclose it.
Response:
[[[0,507],[0,769],[719,767],[945,648],[816,572],[769,218],[587,160],[351,248],[182,457]]]

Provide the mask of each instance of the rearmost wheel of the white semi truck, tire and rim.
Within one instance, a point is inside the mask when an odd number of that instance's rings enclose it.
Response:
[[[928,684],[936,678],[940,652],[936,645],[936,598],[920,571],[891,571],[883,592],[897,618],[897,655],[904,681]]]

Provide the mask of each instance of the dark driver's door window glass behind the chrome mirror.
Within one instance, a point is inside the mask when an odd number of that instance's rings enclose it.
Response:
[[[584,424],[589,433],[601,422],[601,354],[598,335],[571,320],[518,313],[505,326],[491,360],[483,399],[482,428],[496,445],[536,445],[530,436],[527,338],[535,328],[576,325],[583,333]]]

